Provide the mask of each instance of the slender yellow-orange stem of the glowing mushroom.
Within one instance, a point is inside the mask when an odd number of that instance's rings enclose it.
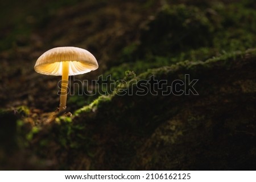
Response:
[[[60,91],[60,108],[59,111],[66,109],[67,95],[68,95],[68,71],[69,61],[62,62],[62,78],[61,78],[61,91]]]

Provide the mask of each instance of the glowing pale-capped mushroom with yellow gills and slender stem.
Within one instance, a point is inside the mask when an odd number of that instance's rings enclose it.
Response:
[[[88,50],[73,46],[57,47],[43,53],[35,64],[35,71],[61,78],[59,111],[65,111],[68,91],[68,76],[88,73],[98,68],[96,58]]]

